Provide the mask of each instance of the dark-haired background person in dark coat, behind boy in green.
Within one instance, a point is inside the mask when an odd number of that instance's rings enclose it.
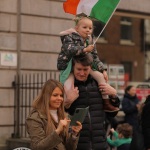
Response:
[[[125,113],[125,122],[133,127],[130,150],[144,150],[143,135],[140,127],[140,112],[142,103],[136,96],[136,88],[129,85],[125,89],[122,101],[122,110]]]

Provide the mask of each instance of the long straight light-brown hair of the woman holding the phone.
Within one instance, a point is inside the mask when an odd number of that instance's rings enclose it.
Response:
[[[50,79],[44,84],[41,92],[35,98],[32,105],[34,109],[38,110],[43,115],[47,116],[48,120],[48,124],[46,127],[47,134],[49,134],[50,126],[52,125],[52,122],[54,122],[54,119],[50,115],[49,104],[50,104],[50,97],[52,96],[52,93],[56,87],[58,87],[62,91],[62,94],[64,96],[63,85],[57,80]],[[57,113],[58,113],[58,120],[65,118],[64,102],[61,103],[61,106],[58,108]],[[64,134],[66,134],[66,131],[64,131]]]

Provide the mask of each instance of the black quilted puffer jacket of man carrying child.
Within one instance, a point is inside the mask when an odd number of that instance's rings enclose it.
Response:
[[[105,112],[103,110],[102,95],[97,82],[89,76],[87,81],[75,80],[75,86],[79,89],[79,97],[66,109],[73,115],[76,108],[89,106],[89,112],[83,122],[77,150],[106,150]],[[112,103],[119,106],[119,99]],[[113,114],[116,115],[117,113]]]

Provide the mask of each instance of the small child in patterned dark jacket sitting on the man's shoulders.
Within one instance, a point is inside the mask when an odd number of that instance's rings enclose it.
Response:
[[[64,84],[66,93],[65,107],[69,107],[70,104],[78,98],[79,93],[77,87],[74,87],[74,76],[71,73],[73,56],[91,53],[94,60],[93,69],[96,69],[97,71],[91,69],[90,75],[98,82],[98,84],[105,84],[106,81],[108,81],[104,65],[98,58],[95,45],[92,44],[92,20],[82,14],[76,17],[75,22],[75,28],[60,33],[62,47],[58,56],[57,68],[61,71],[60,81]],[[106,112],[115,112],[119,110],[119,108],[114,107],[109,103],[109,97],[104,94],[104,91],[102,91],[102,98],[104,100],[104,110]]]

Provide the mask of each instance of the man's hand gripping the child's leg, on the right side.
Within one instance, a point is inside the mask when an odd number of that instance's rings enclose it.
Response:
[[[100,84],[99,89],[102,92],[102,94],[111,95],[114,98],[117,95],[117,91],[107,83],[106,84]]]

